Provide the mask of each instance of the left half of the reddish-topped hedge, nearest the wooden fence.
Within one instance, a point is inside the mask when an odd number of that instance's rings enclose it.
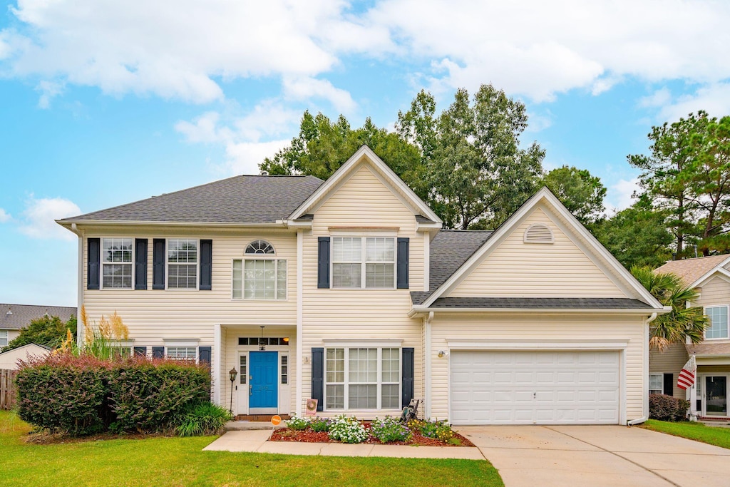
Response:
[[[107,429],[109,364],[93,357],[50,355],[21,362],[18,415],[51,433],[74,436]]]

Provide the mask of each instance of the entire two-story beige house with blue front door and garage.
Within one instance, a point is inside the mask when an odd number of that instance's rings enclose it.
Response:
[[[326,182],[237,176],[58,223],[91,320],[116,310],[131,351],[210,361],[236,414],[648,415],[666,310],[547,189],[496,231],[445,231],[361,147]]]

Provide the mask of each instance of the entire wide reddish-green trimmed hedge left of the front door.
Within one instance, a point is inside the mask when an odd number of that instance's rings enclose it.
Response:
[[[210,370],[193,361],[55,354],[18,371],[18,415],[53,433],[74,436],[160,432],[210,400]]]

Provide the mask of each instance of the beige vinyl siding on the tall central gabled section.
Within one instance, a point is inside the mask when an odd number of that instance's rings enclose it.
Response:
[[[362,231],[390,229],[394,236],[409,237],[410,289],[318,289],[318,237],[329,237],[335,227],[359,227]],[[312,234],[304,235],[303,245],[305,361],[300,401],[311,397],[312,348],[323,347],[323,340],[402,340],[401,347],[415,348],[415,397],[423,397],[422,369],[418,367],[422,361],[422,322],[408,318],[410,291],[423,289],[423,237],[415,231],[413,212],[363,166],[315,209]],[[350,413],[358,412],[350,410]],[[377,413],[359,415],[368,417]]]

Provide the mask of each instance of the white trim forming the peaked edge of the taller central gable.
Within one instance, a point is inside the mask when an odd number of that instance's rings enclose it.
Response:
[[[409,188],[393,170],[388,167],[382,159],[380,159],[367,145],[360,147],[352,157],[347,159],[345,164],[339,166],[326,182],[321,185],[317,191],[314,191],[299,207],[289,215],[290,220],[301,218],[302,215],[312,212],[316,207],[323,204],[339,187],[347,182],[347,180],[355,175],[361,166],[366,165],[372,170],[384,185],[401,199],[414,215],[422,215],[430,221],[441,222],[436,213],[429,208],[413,191]]]

